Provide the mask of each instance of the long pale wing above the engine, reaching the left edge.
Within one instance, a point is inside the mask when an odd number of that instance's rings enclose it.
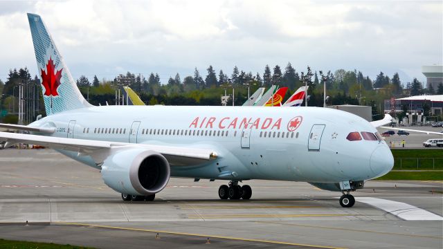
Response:
[[[167,145],[146,145],[133,144],[129,142],[109,142],[99,140],[85,140],[75,138],[58,138],[53,136],[38,136],[21,133],[0,132],[0,140],[5,142],[3,147],[10,147],[19,142],[42,145],[53,149],[64,149],[75,151],[79,154],[92,156],[96,163],[102,163],[109,154],[118,149],[141,148],[156,151],[168,160],[171,164],[183,165],[202,163],[206,160],[217,158],[217,153],[212,149],[197,149],[190,147],[167,146]]]

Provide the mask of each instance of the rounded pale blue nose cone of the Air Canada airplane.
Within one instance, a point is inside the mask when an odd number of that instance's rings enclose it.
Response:
[[[394,167],[394,157],[390,149],[387,147],[377,147],[372,152],[370,159],[372,173],[375,174],[375,177],[383,176],[388,174],[392,167]]]

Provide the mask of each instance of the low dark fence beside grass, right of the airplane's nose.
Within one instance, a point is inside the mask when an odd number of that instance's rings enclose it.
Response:
[[[443,170],[443,158],[395,158],[394,169]]]

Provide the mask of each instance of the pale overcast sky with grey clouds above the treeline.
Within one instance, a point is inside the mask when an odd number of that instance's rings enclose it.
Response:
[[[402,82],[442,64],[443,1],[1,1],[0,79],[37,65],[26,12],[41,15],[74,78],[159,73],[162,82],[213,65],[259,72],[356,68]]]

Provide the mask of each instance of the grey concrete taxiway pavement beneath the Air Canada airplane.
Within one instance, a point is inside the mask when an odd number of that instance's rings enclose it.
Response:
[[[345,209],[338,192],[278,181],[245,181],[251,200],[230,201],[217,196],[227,181],[172,178],[154,202],[124,202],[98,170],[50,149],[3,149],[0,172],[3,239],[97,248],[443,247],[441,182],[369,181]]]

